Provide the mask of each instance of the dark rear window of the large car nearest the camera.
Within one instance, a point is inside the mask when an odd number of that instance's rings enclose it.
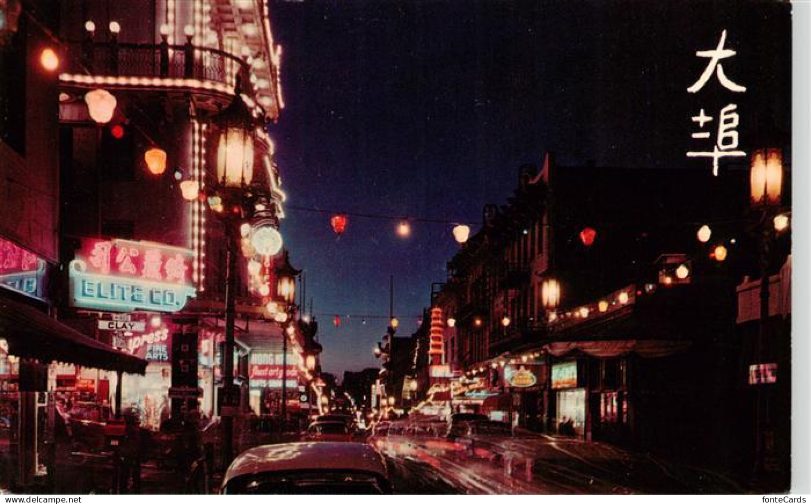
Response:
[[[260,472],[230,480],[223,493],[369,495],[388,493],[388,485],[382,476],[370,472]]]

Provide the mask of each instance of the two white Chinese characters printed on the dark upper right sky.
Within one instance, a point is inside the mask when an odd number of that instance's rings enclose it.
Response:
[[[709,58],[710,62],[707,63],[704,72],[698,80],[687,88],[688,93],[698,93],[701,91],[713,74],[718,77],[719,83],[728,91],[732,93],[744,93],[746,91],[744,86],[732,82],[723,71],[721,60],[730,58],[736,54],[736,51],[724,48],[726,41],[727,30],[723,30],[718,47],[714,50],[696,51],[696,56]],[[699,129],[704,128],[705,123],[716,121],[714,124],[710,124],[710,126],[717,126],[717,135],[712,150],[690,151],[687,153],[687,157],[712,157],[712,173],[716,177],[718,176],[718,162],[721,157],[740,157],[746,155],[744,151],[738,149],[738,131],[736,128],[740,124],[740,116],[736,112],[737,108],[738,106],[736,104],[730,103],[719,111],[717,118],[707,115],[702,108],[697,115],[690,118],[693,123],[697,123]],[[712,133],[710,131],[697,131],[690,136],[696,139],[711,140]]]

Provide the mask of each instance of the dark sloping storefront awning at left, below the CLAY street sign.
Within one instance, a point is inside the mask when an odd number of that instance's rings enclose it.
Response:
[[[0,297],[0,338],[9,353],[40,361],[59,361],[123,373],[144,374],[147,361],[79,333],[45,313]]]

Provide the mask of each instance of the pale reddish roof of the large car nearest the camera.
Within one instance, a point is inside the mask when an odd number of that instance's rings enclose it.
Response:
[[[225,473],[223,485],[246,474],[304,469],[367,471],[388,477],[383,457],[366,443],[295,442],[257,446],[242,452]]]

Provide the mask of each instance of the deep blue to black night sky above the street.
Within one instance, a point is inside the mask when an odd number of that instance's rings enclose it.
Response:
[[[410,335],[459,247],[451,224],[415,222],[400,239],[396,222],[351,216],[337,239],[328,213],[304,209],[478,224],[483,205],[513,192],[518,166],[547,150],[559,164],[710,170],[684,156],[711,150],[690,138],[702,107],[715,115],[736,103],[748,153],[765,125],[790,123],[790,14],[776,2],[270,7],[284,48],[286,107],[271,127],[289,196],[282,234],[306,272],[333,373],[380,365],[372,349],[388,321],[389,275],[398,335]],[[747,92],[713,75],[687,93],[708,62],[695,52],[714,49],[723,29],[738,51],[723,69]],[[747,163],[722,160],[721,176]],[[352,317],[336,327],[332,314]]]

